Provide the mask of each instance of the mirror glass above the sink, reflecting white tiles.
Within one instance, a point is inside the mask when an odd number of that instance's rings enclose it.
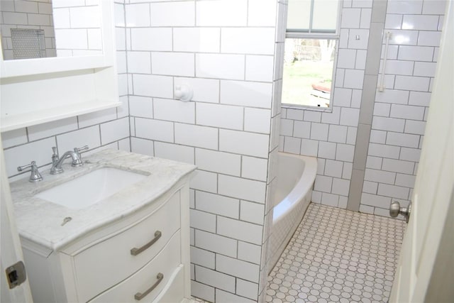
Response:
[[[1,0],[4,60],[102,55],[99,0]]]

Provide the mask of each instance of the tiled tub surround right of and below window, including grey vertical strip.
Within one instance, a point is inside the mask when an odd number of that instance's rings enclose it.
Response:
[[[380,216],[392,199],[409,203],[444,10],[445,1],[343,2],[332,113],[282,109],[279,150],[319,158],[312,202]],[[350,43],[357,33],[365,44]]]

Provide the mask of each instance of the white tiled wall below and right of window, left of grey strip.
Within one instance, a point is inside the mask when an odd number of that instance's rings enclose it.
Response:
[[[318,158],[312,202],[347,207],[365,75],[372,1],[344,1],[332,112],[282,109],[287,153]]]

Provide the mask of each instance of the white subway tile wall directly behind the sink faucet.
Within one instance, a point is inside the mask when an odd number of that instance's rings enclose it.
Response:
[[[130,150],[128,85],[126,65],[121,64],[125,57],[123,1],[116,7],[116,42],[118,50],[118,91],[122,105],[116,109],[106,109],[92,114],[70,117],[50,123],[1,133],[9,177],[25,177],[30,172],[18,173],[16,167],[36,161],[40,170],[50,167],[52,146],[57,146],[60,154],[74,147],[89,145],[90,150],[97,148],[116,148]]]

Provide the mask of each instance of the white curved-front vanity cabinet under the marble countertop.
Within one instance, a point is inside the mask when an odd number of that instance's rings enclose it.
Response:
[[[22,238],[34,302],[189,299],[188,179],[57,250]]]

